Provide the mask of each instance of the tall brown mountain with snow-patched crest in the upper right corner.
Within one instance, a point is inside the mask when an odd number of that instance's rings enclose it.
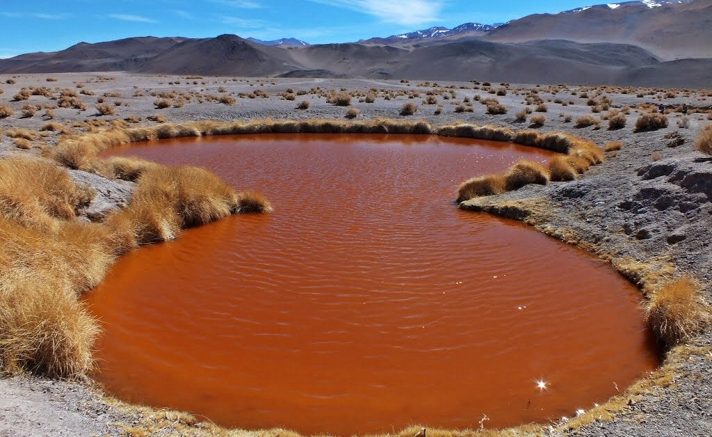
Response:
[[[629,1],[534,14],[483,38],[509,43],[542,39],[629,43],[667,60],[712,58],[712,0]]]

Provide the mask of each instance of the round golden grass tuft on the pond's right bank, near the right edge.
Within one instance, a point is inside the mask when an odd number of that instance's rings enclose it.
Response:
[[[651,331],[667,347],[699,334],[709,322],[699,284],[689,277],[663,284],[650,299],[647,319]]]

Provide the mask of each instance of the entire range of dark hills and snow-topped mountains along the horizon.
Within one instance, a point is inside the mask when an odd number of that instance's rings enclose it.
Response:
[[[0,73],[132,71],[513,83],[712,85],[712,0],[629,1],[502,25],[434,27],[311,46],[215,38],[126,38],[0,59]]]

